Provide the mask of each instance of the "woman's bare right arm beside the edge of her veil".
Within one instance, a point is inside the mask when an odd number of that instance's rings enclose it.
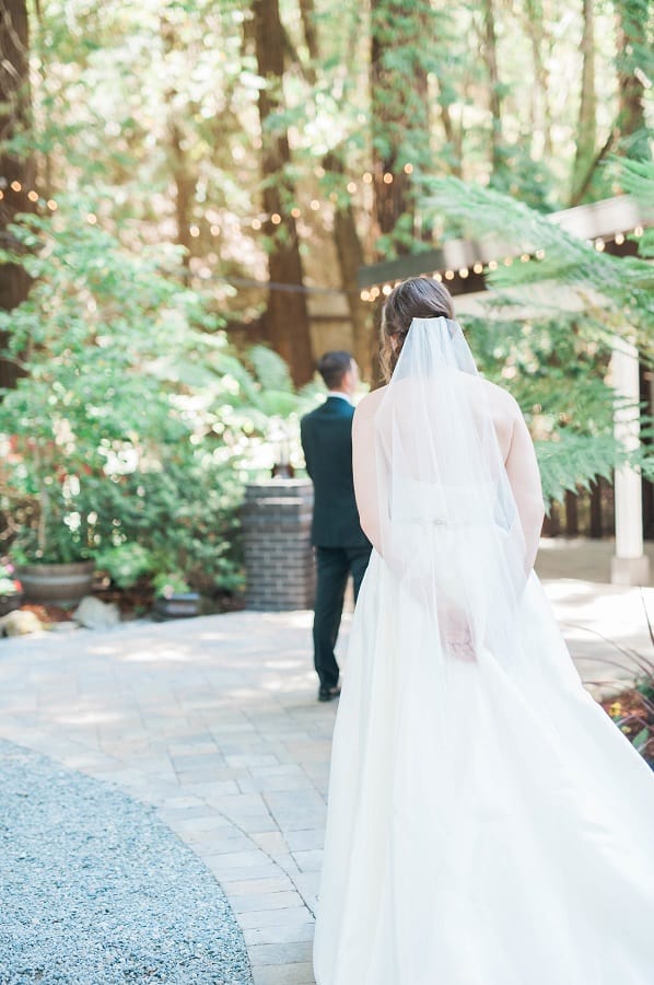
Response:
[[[525,537],[525,569],[529,572],[538,552],[545,507],[534,442],[517,404],[505,466]]]

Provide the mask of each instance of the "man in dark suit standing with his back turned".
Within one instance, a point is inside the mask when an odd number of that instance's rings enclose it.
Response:
[[[334,656],[348,575],[354,600],[370,559],[371,544],[359,523],[352,479],[352,396],[359,370],[349,352],[326,352],[318,362],[327,387],[325,403],[302,418],[300,436],[314,484],[312,544],[316,554],[314,664],[319,702],[338,697],[339,668]]]

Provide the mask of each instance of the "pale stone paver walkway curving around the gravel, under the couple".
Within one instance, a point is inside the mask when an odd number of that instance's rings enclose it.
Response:
[[[638,590],[560,570],[547,591],[587,680],[616,672],[598,633],[652,654]],[[314,982],[336,711],[315,698],[307,612],[0,641],[0,735],[155,804],[224,888],[256,985]]]

